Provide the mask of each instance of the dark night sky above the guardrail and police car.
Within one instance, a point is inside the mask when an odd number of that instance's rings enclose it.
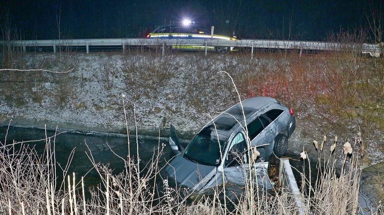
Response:
[[[380,9],[380,0],[0,0],[0,25],[21,39],[144,37],[188,17],[242,38],[325,40],[368,29],[370,3]]]

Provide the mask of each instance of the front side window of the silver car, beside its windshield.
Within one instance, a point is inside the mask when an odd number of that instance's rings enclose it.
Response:
[[[226,158],[226,164],[228,167],[239,166],[243,163],[247,163],[247,158],[244,154],[246,149],[247,144],[244,136],[242,133],[238,133],[230,144],[230,150],[228,151]]]

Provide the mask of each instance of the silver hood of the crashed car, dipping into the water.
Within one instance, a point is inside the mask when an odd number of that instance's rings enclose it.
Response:
[[[216,167],[192,162],[179,154],[165,167],[165,171],[178,186],[200,189],[214,175],[212,172],[216,172]]]

